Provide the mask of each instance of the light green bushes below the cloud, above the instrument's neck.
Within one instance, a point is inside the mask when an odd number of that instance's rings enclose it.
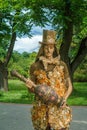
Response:
[[[22,54],[20,54],[14,51],[8,65],[9,72],[15,69],[25,77],[29,77],[29,69],[31,64],[34,62],[35,57],[36,57],[36,52],[33,53],[23,52]]]

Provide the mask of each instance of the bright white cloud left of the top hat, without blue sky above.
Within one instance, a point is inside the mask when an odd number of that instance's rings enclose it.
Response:
[[[33,51],[37,52],[40,47],[39,41],[42,41],[41,35],[34,35],[32,38],[17,38],[14,50],[20,53],[24,51],[29,53]]]

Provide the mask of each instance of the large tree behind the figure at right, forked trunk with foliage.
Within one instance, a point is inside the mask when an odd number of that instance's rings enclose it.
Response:
[[[41,20],[46,16],[57,31],[57,40],[61,41],[61,58],[68,65],[73,78],[75,70],[87,54],[87,1],[30,0],[26,2],[27,7],[30,2],[33,2],[33,16]]]

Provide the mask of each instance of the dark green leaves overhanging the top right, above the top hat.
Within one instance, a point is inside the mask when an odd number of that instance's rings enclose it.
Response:
[[[25,6],[31,8],[33,14],[37,14],[37,19],[41,19],[38,22],[42,22],[42,18],[46,17],[49,19],[49,22],[56,28],[57,31],[61,28],[66,27],[66,20],[72,21],[74,29],[80,29],[80,26],[83,26],[83,23],[86,25],[85,21],[87,18],[87,1],[79,0],[30,0],[25,1]],[[66,7],[69,8],[68,16],[65,15]],[[38,7],[38,8],[37,8]],[[38,13],[38,10],[40,11]],[[33,16],[33,17],[34,17]],[[46,20],[47,22],[48,20]],[[84,22],[85,21],[85,22]],[[63,30],[61,30],[63,31]]]

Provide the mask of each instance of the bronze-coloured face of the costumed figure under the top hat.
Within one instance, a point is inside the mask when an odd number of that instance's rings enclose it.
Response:
[[[53,52],[54,52],[54,45],[53,44],[44,45],[44,54],[47,58],[52,57]]]

